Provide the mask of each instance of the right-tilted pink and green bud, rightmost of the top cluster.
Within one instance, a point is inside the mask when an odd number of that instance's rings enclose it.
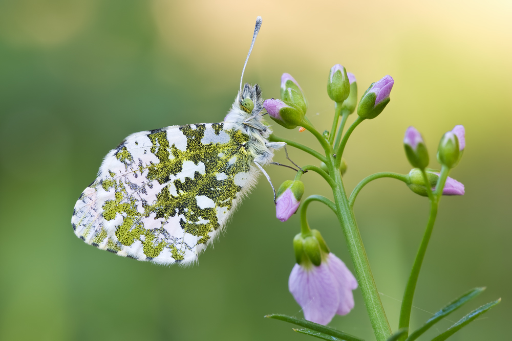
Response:
[[[393,78],[387,75],[376,83],[372,83],[359,101],[357,115],[369,120],[376,118],[388,105],[394,82]]]

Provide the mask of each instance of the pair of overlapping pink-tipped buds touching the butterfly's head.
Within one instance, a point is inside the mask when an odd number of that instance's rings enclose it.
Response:
[[[300,85],[290,74],[281,77],[281,100],[269,99],[263,106],[272,120],[285,128],[300,126],[306,115],[308,103]]]

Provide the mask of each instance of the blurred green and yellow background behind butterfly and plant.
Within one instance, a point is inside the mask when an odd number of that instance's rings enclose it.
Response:
[[[510,339],[512,3],[503,0],[0,1],[0,339],[308,338],[263,319],[302,317],[287,284],[298,217],[275,219],[263,179],[199,266],[117,257],[84,244],[70,223],[102,157],[124,137],[222,121],[257,15],[263,28],[245,80],[258,82],[264,97],[278,97],[281,74],[292,74],[318,129],[331,126],[326,80],[333,64],[356,75],[359,96],[382,76],[394,77],[391,103],[348,143],[348,190],[374,172],[409,171],[402,147],[409,125],[423,133],[431,160],[443,132],[466,127],[464,157],[451,174],[466,194],[441,202],[412,327],[466,290],[487,286],[448,320],[498,297],[503,302],[451,340]],[[307,132],[275,132],[318,149]],[[291,157],[313,162],[297,150]],[[284,162],[284,152],[274,161]],[[293,176],[267,170],[276,185]],[[310,174],[303,177],[306,194],[330,196]],[[428,202],[382,179],[361,192],[355,211],[396,330]],[[309,220],[352,269],[334,215],[313,204]],[[331,326],[371,340],[359,290],[355,300]]]

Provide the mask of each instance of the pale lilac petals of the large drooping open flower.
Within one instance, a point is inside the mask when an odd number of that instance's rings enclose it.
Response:
[[[319,266],[295,264],[288,288],[306,320],[326,325],[335,314],[346,315],[352,310],[352,290],[357,288],[357,281],[345,263],[329,253]]]

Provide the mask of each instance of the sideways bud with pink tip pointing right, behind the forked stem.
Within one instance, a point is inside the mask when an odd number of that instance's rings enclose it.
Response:
[[[429,179],[429,186],[432,190],[435,190],[437,180],[439,179],[440,173],[433,169],[426,169],[426,177]],[[421,196],[428,196],[425,187],[425,181],[423,180],[423,174],[419,168],[413,168],[409,172],[409,184],[407,185],[411,191]],[[444,184],[442,195],[464,195],[464,185],[454,178],[447,177]]]

